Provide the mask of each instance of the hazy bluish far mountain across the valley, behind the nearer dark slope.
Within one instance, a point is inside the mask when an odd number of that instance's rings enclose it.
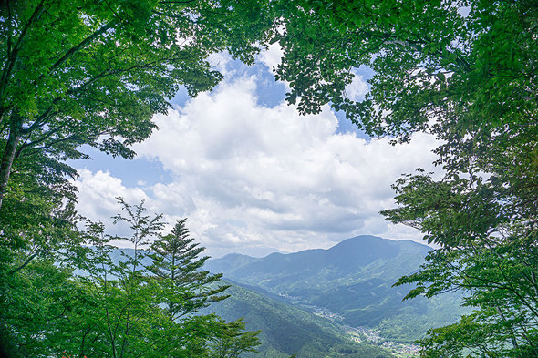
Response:
[[[414,241],[357,236],[327,250],[264,258],[227,255],[205,268],[337,322],[410,343],[431,327],[456,321],[462,312],[456,294],[402,302],[410,287],[392,287],[400,276],[417,271],[430,250]]]

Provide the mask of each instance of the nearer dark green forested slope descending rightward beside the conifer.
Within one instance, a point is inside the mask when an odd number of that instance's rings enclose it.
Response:
[[[262,330],[258,354],[243,354],[243,357],[317,358],[337,356],[342,358],[388,358],[393,355],[386,349],[369,343],[350,340],[343,327],[326,318],[316,316],[305,309],[297,308],[270,298],[271,293],[255,287],[229,283],[226,290],[231,296],[224,301],[214,302],[202,313],[216,313],[226,321],[244,318],[250,331]]]

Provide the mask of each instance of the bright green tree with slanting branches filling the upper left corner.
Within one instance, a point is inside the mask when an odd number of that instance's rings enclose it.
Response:
[[[16,160],[59,163],[79,147],[132,158],[151,117],[179,87],[191,96],[222,75],[207,56],[246,63],[271,25],[264,2],[2,1],[0,207]],[[43,165],[48,163],[42,162]],[[70,174],[74,174],[70,172]]]

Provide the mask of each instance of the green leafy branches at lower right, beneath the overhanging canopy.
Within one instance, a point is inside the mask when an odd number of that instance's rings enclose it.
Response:
[[[442,245],[421,271],[402,277],[398,285],[416,284],[407,298],[462,290],[463,303],[474,308],[459,325],[430,331],[422,342],[425,353],[450,355],[460,347],[478,356],[536,354],[536,230],[513,189],[500,187],[495,177],[436,182],[426,175],[401,179],[396,188],[402,208],[388,210],[388,217],[419,226],[428,240]],[[469,324],[473,335],[461,335],[460,343],[457,334],[448,333]]]

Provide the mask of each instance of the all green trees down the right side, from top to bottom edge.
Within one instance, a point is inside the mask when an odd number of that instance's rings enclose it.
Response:
[[[538,8],[531,1],[282,1],[277,77],[302,113],[329,103],[371,136],[440,139],[441,179],[395,185],[388,220],[425,234],[408,298],[462,290],[475,310],[432,330],[424,356],[537,354]],[[374,76],[361,101],[353,71]],[[462,334],[461,332],[467,332]]]

